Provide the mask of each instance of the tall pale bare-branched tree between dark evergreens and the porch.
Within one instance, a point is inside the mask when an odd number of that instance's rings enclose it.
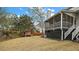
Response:
[[[31,15],[32,15],[33,21],[35,23],[36,22],[40,23],[42,33],[44,34],[44,20],[45,20],[45,12],[43,11],[44,8],[42,8],[42,7],[31,7],[30,10],[31,10]]]

